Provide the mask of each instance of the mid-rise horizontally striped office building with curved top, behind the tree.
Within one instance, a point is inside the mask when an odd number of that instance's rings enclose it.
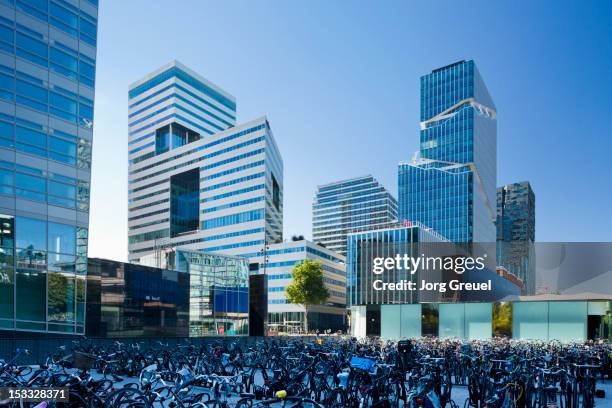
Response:
[[[374,177],[318,186],[312,204],[312,239],[346,255],[346,236],[397,220],[397,200]]]

